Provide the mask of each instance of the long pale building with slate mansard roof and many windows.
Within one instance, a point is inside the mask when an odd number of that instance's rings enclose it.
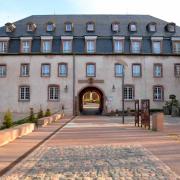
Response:
[[[148,15],[38,15],[0,28],[1,112],[79,114],[87,91],[101,113],[121,110],[122,94],[125,109],[180,99],[180,27]]]

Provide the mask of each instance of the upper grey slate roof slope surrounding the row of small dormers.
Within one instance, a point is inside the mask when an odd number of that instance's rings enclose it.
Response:
[[[56,30],[54,32],[46,32],[46,23],[52,21],[56,24]],[[64,31],[64,23],[72,22],[74,26],[73,32]],[[86,32],[86,23],[93,21],[95,23],[95,32]],[[26,31],[26,24],[33,22],[37,25],[37,29],[34,33]],[[113,22],[120,23],[120,31],[114,33],[111,30],[111,24]],[[130,22],[137,23],[137,32],[129,32],[128,24]],[[150,33],[147,31],[146,26],[150,22],[157,24],[157,31]],[[6,33],[5,27],[0,28],[0,36],[43,36],[43,35],[73,35],[73,36],[85,36],[85,35],[97,35],[97,36],[180,36],[180,27],[176,26],[175,33],[168,33],[165,31],[165,26],[168,22],[155,18],[150,15],[33,15],[25,19],[15,22],[16,30],[13,33]]]

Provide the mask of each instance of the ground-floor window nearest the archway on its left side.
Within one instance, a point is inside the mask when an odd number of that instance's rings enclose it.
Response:
[[[48,87],[48,100],[50,101],[59,100],[59,86],[51,85]]]

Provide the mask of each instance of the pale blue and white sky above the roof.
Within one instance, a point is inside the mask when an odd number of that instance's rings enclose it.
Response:
[[[33,14],[150,14],[180,25],[179,7],[180,0],[0,0],[0,26]]]

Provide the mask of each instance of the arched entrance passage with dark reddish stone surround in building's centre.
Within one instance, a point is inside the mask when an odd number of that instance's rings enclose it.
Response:
[[[104,96],[97,87],[86,87],[79,93],[79,111],[83,115],[100,115],[103,112]]]

